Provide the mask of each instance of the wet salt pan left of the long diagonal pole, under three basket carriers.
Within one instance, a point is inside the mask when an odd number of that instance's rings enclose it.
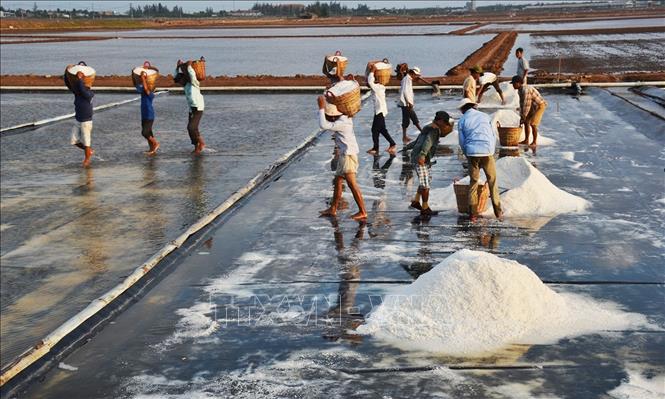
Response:
[[[33,95],[22,96],[14,98]],[[81,169],[81,151],[69,145],[73,120],[3,136],[2,364],[311,134],[311,102],[206,96],[201,131],[209,150],[199,158],[190,154],[179,95],[155,99],[155,158],[142,153],[138,102],[95,115],[91,169]]]

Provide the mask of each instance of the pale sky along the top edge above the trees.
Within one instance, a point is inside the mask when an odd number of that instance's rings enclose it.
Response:
[[[477,2],[478,5],[489,5],[489,4],[516,4],[516,3],[534,3],[538,0],[528,1],[528,0],[480,0]],[[23,8],[23,9],[32,9],[33,5],[37,3],[37,7],[40,9],[46,10],[55,10],[56,8],[71,10],[72,8],[77,9],[88,9],[91,10],[94,8],[96,11],[115,11],[118,13],[125,12],[129,9],[129,4],[136,6],[143,6],[145,4],[156,4],[162,3],[163,5],[173,8],[173,6],[178,5],[182,6],[185,11],[203,11],[207,7],[212,7],[213,10],[246,10],[251,8],[255,3],[300,3],[300,4],[310,4],[314,1],[301,1],[301,0],[283,0],[283,1],[271,1],[271,0],[259,0],[259,1],[245,1],[245,0],[225,0],[225,1],[17,1],[17,0],[7,0],[0,1],[3,7],[9,9]],[[325,1],[324,1],[325,2]],[[350,7],[355,8],[358,4],[367,4],[370,8],[423,8],[423,7],[463,7],[466,4],[466,0],[450,0],[450,1],[391,1],[391,0],[379,0],[379,1],[338,1],[339,3]]]

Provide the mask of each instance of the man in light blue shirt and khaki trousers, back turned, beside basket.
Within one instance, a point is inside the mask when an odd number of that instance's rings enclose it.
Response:
[[[496,136],[492,129],[490,117],[476,109],[477,104],[465,98],[460,102],[459,109],[462,117],[457,124],[459,133],[459,145],[462,152],[469,160],[469,215],[471,222],[478,219],[478,179],[480,169],[485,172],[487,182],[490,186],[492,207],[497,219],[503,219],[501,201],[499,199],[499,188],[496,182],[496,165],[494,164],[494,150],[496,147]]]

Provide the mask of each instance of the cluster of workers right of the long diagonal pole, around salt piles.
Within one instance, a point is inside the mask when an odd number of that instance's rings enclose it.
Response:
[[[524,58],[524,51],[519,48],[515,56],[518,59],[517,74],[510,83],[517,91],[520,99],[520,125],[524,125],[525,140],[520,144],[535,146],[538,139],[538,125],[542,119],[547,102],[538,90],[527,85],[528,62]],[[386,88],[374,78],[374,67],[369,69],[367,83],[372,91],[374,104],[374,119],[372,122],[373,146],[367,152],[378,154],[379,134],[388,141],[387,152],[395,154],[396,144],[386,129],[385,116],[388,113],[386,105]],[[420,78],[420,69],[413,67],[404,74],[401,80],[398,106],[402,111],[402,141],[404,151],[411,151],[411,164],[418,176],[418,189],[411,200],[410,207],[420,211],[421,217],[431,217],[438,212],[429,206],[429,193],[432,183],[432,163],[436,156],[439,140],[453,131],[454,120],[446,111],[438,111],[434,120],[421,128],[416,115],[413,95],[413,80]],[[331,81],[331,84],[334,84]],[[469,77],[464,81],[463,98],[458,105],[462,116],[457,122],[459,145],[468,160],[470,177],[469,187],[469,220],[474,223],[479,217],[478,210],[478,181],[480,170],[485,173],[489,185],[490,197],[494,215],[503,220],[503,210],[496,176],[494,153],[497,137],[488,114],[477,109],[480,100],[490,87],[494,87],[502,105],[506,105],[506,98],[499,86],[498,77],[494,73],[484,72],[480,66],[469,69]],[[343,182],[346,181],[353,198],[358,206],[358,212],[351,216],[355,220],[365,220],[367,211],[363,201],[362,192],[356,180],[358,171],[358,143],[353,130],[353,118],[343,115],[337,108],[319,96],[319,126],[333,134],[336,145],[337,164],[333,180],[333,197],[330,206],[321,212],[321,216],[335,217],[342,198]],[[413,123],[420,131],[415,141],[407,135],[407,128]],[[529,143],[530,132],[533,132],[533,141]]]

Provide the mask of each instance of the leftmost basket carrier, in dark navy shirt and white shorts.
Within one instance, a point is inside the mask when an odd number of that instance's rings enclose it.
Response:
[[[67,70],[72,66],[68,65]],[[63,78],[67,88],[74,93],[74,118],[76,119],[76,123],[72,127],[71,143],[84,151],[83,167],[87,168],[90,166],[92,154],[95,153],[91,147],[92,97],[95,96],[95,93],[83,84],[83,72],[79,71],[76,76],[78,79],[73,84],[67,80],[67,72],[65,72]]]

